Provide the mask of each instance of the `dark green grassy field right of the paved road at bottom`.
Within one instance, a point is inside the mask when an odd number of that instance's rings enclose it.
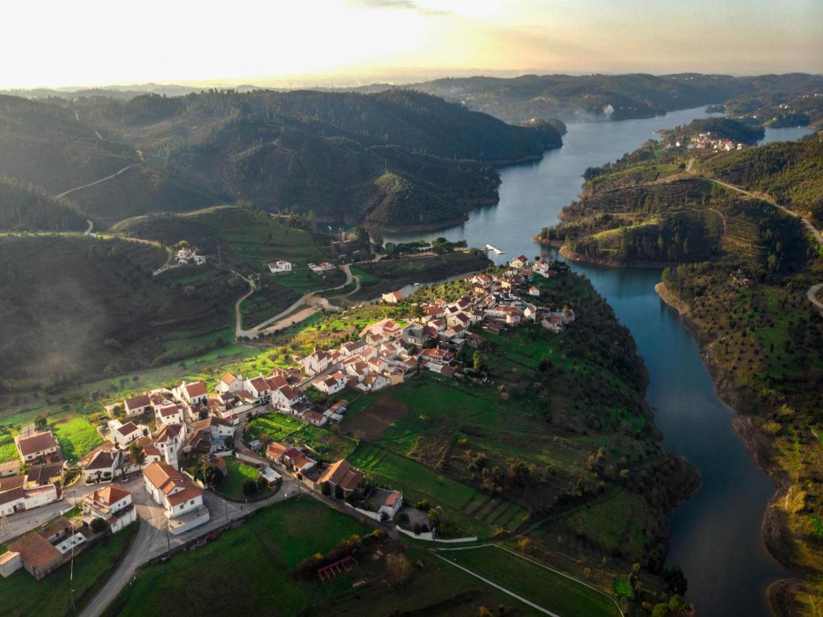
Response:
[[[174,603],[187,615],[297,615],[353,580],[297,583],[290,573],[300,560],[369,531],[311,498],[268,507],[211,544],[141,569],[107,614],[164,615]]]

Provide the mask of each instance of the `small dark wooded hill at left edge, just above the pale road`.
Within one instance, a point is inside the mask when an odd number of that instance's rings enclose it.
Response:
[[[86,217],[67,199],[54,199],[22,180],[0,177],[0,229],[83,231]]]

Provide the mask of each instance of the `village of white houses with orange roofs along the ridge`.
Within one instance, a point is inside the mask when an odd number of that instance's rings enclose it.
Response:
[[[293,358],[294,366],[267,376],[228,372],[213,391],[204,381],[182,381],[114,401],[105,407],[109,419],[98,429],[105,441],[82,456],[73,473],[53,432],[35,424],[24,428],[15,437],[19,460],[0,468],[2,531],[7,539],[16,538],[0,554],[0,574],[25,568],[41,579],[144,512],[151,526],[165,531],[165,540],[156,535],[151,548],[162,554],[172,549],[172,538],[180,546],[215,537],[209,535],[213,530],[254,507],[301,489],[360,520],[434,539],[436,526],[425,514],[415,517],[414,508],[407,507],[398,517],[402,490],[370,483],[345,458],[325,460],[305,444],[256,438],[246,427],[277,414],[330,428],[345,418],[351,399],[402,384],[421,371],[446,379],[482,378],[477,367],[458,358],[467,357],[465,347],[482,347],[483,332],[540,324],[559,333],[574,322],[570,308],[539,306],[541,290],[533,284],[535,276],[552,278],[564,267],[521,255],[506,268],[465,278],[467,292],[454,301],[385,293],[384,304],[403,307],[402,320],[365,325],[337,348],[315,348]],[[212,490],[239,461],[255,472],[244,479],[242,495]],[[39,508],[53,518],[35,517]],[[77,516],[70,520],[72,510]]]

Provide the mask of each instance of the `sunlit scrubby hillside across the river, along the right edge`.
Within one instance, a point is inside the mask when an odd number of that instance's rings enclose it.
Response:
[[[807,293],[823,281],[823,261],[802,221],[765,199],[814,209],[819,150],[807,138],[704,152],[690,161],[697,177],[684,171],[691,154],[647,144],[590,170],[583,198],[541,234],[573,259],[670,264],[661,296],[681,311],[719,395],[741,414],[738,432],[777,485],[765,545],[805,578],[770,587],[781,605],[821,591],[823,319]],[[756,199],[714,177],[768,194]]]

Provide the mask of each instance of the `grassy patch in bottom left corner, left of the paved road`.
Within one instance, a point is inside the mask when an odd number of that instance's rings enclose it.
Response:
[[[0,612],[14,617],[75,615],[70,590],[74,590],[79,612],[100,590],[114,570],[114,565],[122,559],[137,529],[137,525],[132,524],[77,555],[73,581],[69,581],[68,565],[63,565],[42,581],[36,580],[24,569],[0,579]]]

